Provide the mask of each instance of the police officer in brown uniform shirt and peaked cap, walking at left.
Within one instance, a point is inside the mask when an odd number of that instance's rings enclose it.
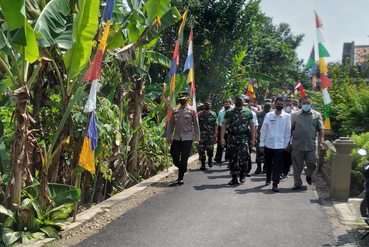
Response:
[[[178,167],[178,184],[183,184],[183,176],[187,172],[187,161],[191,153],[193,138],[195,145],[199,146],[200,130],[197,111],[187,101],[189,93],[179,92],[180,106],[172,110],[168,123],[167,142],[170,147],[173,163]],[[173,141],[172,141],[172,134]]]

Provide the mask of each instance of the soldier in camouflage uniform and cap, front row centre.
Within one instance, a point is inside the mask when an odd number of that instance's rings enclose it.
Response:
[[[235,107],[225,112],[223,125],[221,129],[221,145],[225,145],[224,133],[227,128],[228,134],[228,158],[230,162],[230,174],[232,180],[229,185],[238,184],[237,174],[239,172],[239,181],[245,182],[245,170],[248,163],[248,125],[251,130],[251,148],[255,143],[254,117],[251,110],[243,107],[244,97],[238,94],[234,97]],[[228,125],[228,127],[227,127]]]

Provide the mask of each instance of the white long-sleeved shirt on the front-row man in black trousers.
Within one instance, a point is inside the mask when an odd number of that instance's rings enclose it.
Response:
[[[275,111],[265,115],[263,125],[260,130],[261,147],[271,149],[285,149],[291,138],[290,114],[282,111],[279,116]]]

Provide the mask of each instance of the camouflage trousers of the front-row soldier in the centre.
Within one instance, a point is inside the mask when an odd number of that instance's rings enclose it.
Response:
[[[237,175],[238,172],[244,174],[249,159],[247,142],[228,142],[227,152],[230,162],[230,174]]]

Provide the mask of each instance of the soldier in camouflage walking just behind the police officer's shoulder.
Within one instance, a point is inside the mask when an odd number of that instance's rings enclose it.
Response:
[[[201,161],[200,170],[205,169],[205,150],[208,155],[208,166],[213,167],[214,139],[218,135],[217,114],[211,111],[211,100],[204,101],[204,110],[199,112],[200,145],[199,160]]]

